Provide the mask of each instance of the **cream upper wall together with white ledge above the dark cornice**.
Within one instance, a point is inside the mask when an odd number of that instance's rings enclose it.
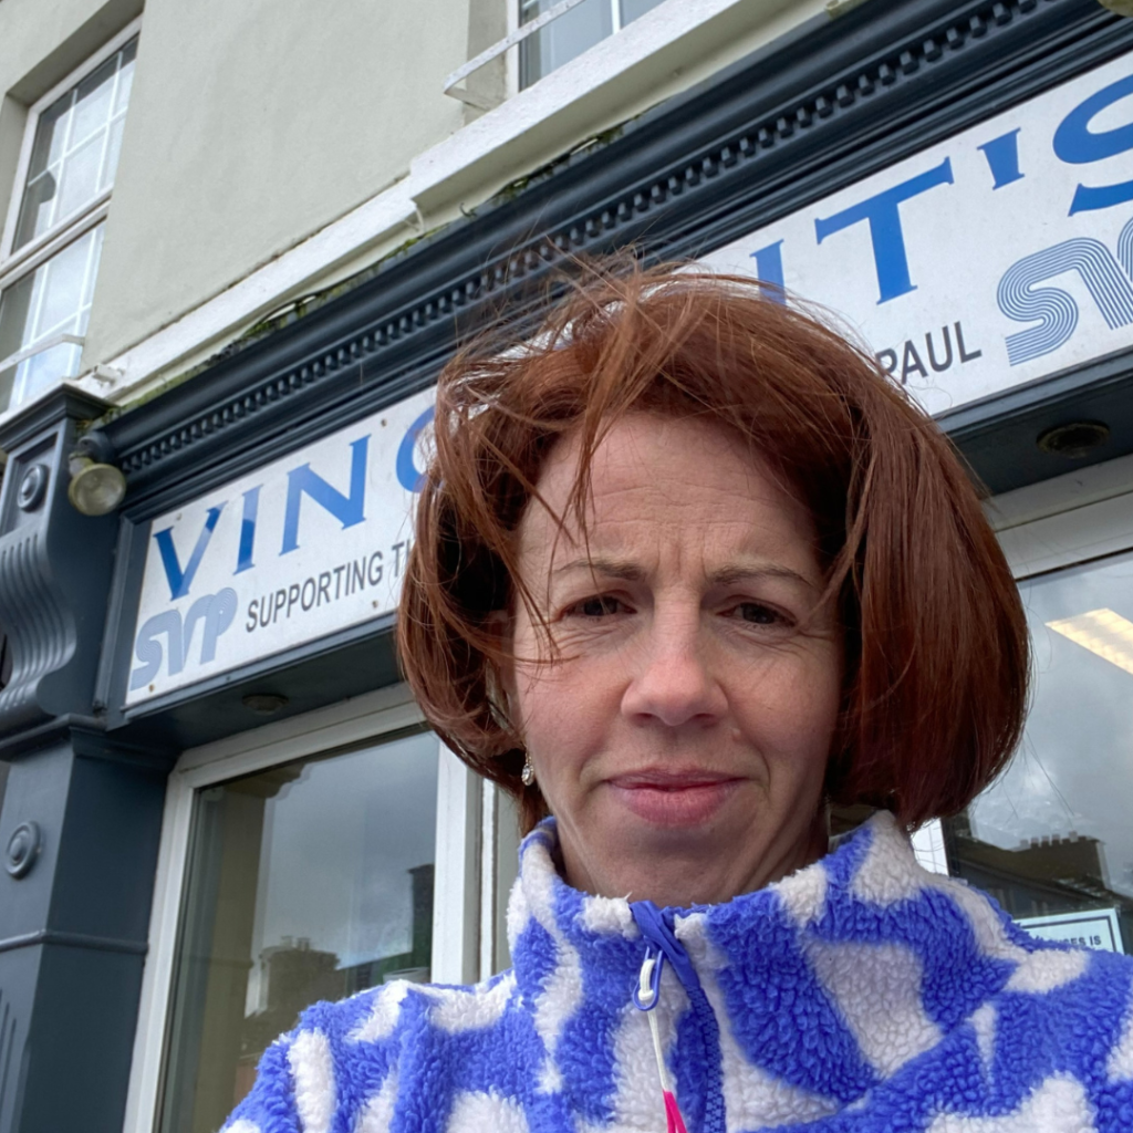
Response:
[[[153,397],[288,300],[687,90],[824,0],[668,0],[512,97],[516,0],[148,0],[80,385]],[[142,0],[0,0],[0,204],[26,105]],[[110,367],[99,375],[90,370]]]

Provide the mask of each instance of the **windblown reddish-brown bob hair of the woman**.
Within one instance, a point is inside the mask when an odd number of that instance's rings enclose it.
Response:
[[[547,454],[577,434],[568,510],[585,538],[590,459],[633,412],[718,423],[810,509],[845,653],[829,803],[910,827],[953,815],[1019,741],[1026,624],[976,487],[863,349],[782,300],[680,265],[590,269],[533,338],[480,339],[441,374],[401,663],[441,739],[519,800],[525,830],[547,810],[520,780],[499,675],[499,612],[522,600],[539,624],[516,529]]]

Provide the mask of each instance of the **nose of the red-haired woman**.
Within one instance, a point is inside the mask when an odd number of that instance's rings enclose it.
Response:
[[[699,617],[658,620],[644,640],[622,696],[623,715],[668,727],[721,718],[726,699],[701,639]]]

